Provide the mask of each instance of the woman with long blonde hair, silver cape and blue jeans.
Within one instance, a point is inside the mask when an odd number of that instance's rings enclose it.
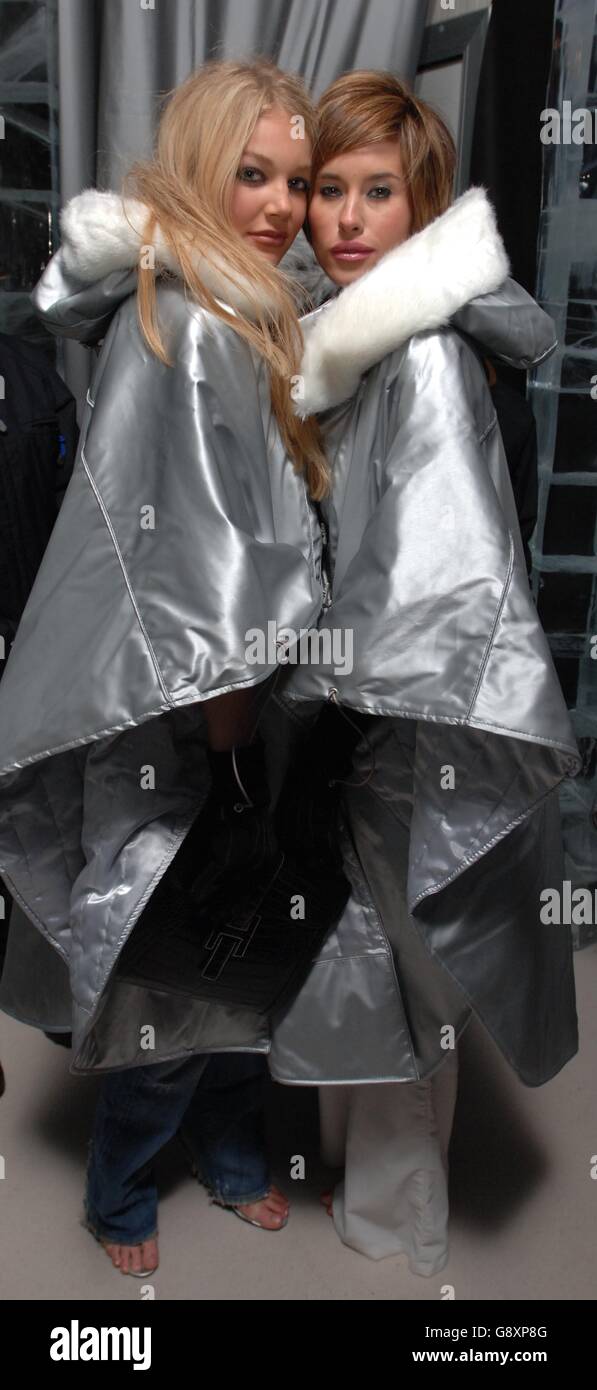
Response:
[[[299,630],[321,603],[327,470],[292,411],[302,339],[277,270],[312,138],[299,79],[207,64],[124,196],[68,203],[33,293],[53,332],[102,350],[1,685],[0,869],[28,912],[1,1005],[72,1030],[75,1073],[109,1072],[85,1207],[122,1273],[157,1266],[152,1161],[180,1126],[216,1201],[267,1230],[288,1212],[264,1155],[263,1015],[192,997],[184,970],[174,991],[131,984],[118,959],[191,824],[198,901],[274,853],[252,735],[276,657],[256,663],[246,634]]]

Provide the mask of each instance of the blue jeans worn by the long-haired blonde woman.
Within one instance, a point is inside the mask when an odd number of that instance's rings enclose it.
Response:
[[[264,1147],[264,1058],[216,1052],[110,1072],[89,1143],[85,1216],[95,1236],[136,1245],[157,1234],[152,1162],[180,1134],[217,1201],[255,1202],[271,1186]]]

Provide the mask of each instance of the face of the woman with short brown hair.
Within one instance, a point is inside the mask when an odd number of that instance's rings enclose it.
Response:
[[[411,200],[398,140],[334,154],[309,204],[313,250],[330,279],[351,285],[411,235]]]

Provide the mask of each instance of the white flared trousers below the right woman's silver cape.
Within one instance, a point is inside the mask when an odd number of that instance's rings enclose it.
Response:
[[[424,1081],[319,1088],[321,1158],[344,1163],[333,1212],[345,1245],[370,1259],[405,1254],[415,1275],[444,1269],[456,1091],[456,1048]]]

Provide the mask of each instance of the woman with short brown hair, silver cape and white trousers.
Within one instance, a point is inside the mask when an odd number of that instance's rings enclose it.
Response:
[[[321,628],[352,632],[353,660],[292,673],[287,695],[327,708],[285,833],[309,852],[309,799],[335,780],[352,895],[270,1070],[321,1083],[341,1238],[430,1276],[472,1012],[527,1086],[578,1048],[571,931],[540,895],[562,878],[557,788],[579,758],[481,360],[526,368],[555,339],[483,189],[452,203],[454,143],[424,101],[351,72],[319,120],[309,227],[337,293],[303,322],[299,410],[320,411],[333,468]]]

